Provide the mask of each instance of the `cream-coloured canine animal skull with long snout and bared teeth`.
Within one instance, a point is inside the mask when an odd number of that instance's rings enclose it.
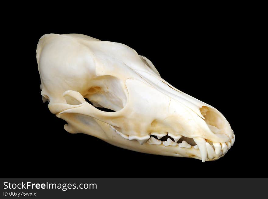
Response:
[[[150,60],[124,44],[46,34],[36,52],[43,101],[68,123],[64,129],[70,133],[203,162],[224,156],[234,143],[217,109],[168,84]]]

